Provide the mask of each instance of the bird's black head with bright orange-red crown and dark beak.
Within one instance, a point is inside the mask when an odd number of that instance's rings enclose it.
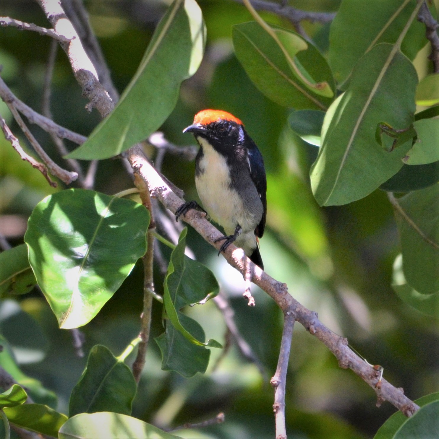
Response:
[[[195,115],[194,123],[183,130],[203,137],[223,155],[235,155],[243,144],[243,123],[235,116],[221,110],[203,110]]]

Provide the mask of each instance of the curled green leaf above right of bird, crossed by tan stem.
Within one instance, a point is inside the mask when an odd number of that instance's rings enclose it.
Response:
[[[289,52],[301,72],[315,83],[327,82],[334,92],[334,79],[330,68],[311,43],[287,29],[272,25],[276,32],[283,32],[283,40],[289,34]],[[291,69],[276,41],[256,22],[233,26],[235,54],[252,82],[261,93],[284,107],[303,109],[325,109],[331,102],[329,97],[312,92]],[[293,39],[296,41],[293,44]],[[303,50],[305,45],[308,49]]]

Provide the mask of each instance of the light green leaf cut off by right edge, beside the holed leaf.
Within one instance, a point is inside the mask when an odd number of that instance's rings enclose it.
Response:
[[[403,158],[407,165],[426,165],[439,160],[439,119],[421,119],[414,122],[417,139]]]

